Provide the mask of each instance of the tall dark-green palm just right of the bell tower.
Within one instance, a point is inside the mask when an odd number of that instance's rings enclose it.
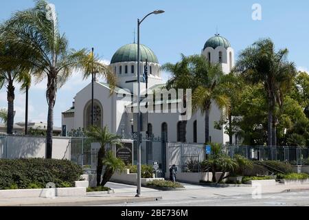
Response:
[[[268,100],[268,146],[276,145],[276,103],[283,101],[282,88],[295,75],[295,64],[288,62],[288,50],[275,52],[271,39],[262,39],[243,50],[236,64],[236,72],[252,83],[262,83]]]

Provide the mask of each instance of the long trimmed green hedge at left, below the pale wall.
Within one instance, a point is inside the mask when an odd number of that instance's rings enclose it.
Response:
[[[0,189],[45,188],[52,182],[59,187],[73,187],[82,167],[60,159],[0,159]]]

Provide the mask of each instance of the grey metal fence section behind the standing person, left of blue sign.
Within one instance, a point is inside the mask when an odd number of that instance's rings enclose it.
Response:
[[[168,143],[168,166],[176,165],[181,172],[200,172],[205,159],[203,144]]]

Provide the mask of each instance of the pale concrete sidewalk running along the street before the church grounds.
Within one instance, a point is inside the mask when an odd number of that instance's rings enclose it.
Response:
[[[142,197],[137,198],[135,188],[115,188],[114,194],[87,195],[86,197],[55,197],[46,198],[16,198],[1,199],[0,206],[98,206],[121,203],[139,203],[157,200],[190,200],[211,199],[224,197],[251,197],[255,188],[251,187],[229,187],[214,188],[209,186],[183,184],[186,190],[183,191],[160,191],[142,188]],[[301,192],[309,191],[309,184],[284,186],[262,186],[262,195],[276,194],[282,192]]]

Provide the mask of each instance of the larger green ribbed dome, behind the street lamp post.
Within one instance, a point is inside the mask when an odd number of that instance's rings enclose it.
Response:
[[[159,63],[157,56],[152,50],[150,50],[145,45],[140,45],[141,50],[141,61],[149,63]],[[134,62],[137,61],[137,43],[130,43],[120,47],[117,52],[115,52],[111,63],[122,63],[122,62]]]

